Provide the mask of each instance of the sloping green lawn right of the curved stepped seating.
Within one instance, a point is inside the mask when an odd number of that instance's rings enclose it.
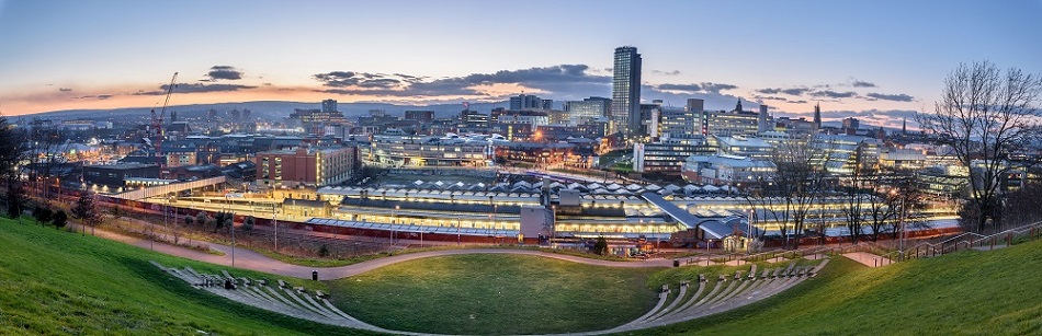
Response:
[[[1042,241],[882,268],[837,257],[771,299],[642,334],[1039,335]]]

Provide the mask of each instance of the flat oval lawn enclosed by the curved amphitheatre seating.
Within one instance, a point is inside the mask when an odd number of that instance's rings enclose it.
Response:
[[[458,255],[331,281],[341,310],[400,331],[530,334],[596,331],[650,309],[659,269],[608,268],[522,255]]]

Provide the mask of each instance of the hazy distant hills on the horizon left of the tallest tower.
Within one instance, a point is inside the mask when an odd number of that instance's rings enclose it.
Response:
[[[339,103],[338,109],[343,112],[344,116],[361,116],[369,113],[370,109],[384,109],[390,115],[404,115],[409,109],[433,111],[438,117],[449,117],[463,111],[462,104],[439,104],[439,105],[395,105],[386,103]],[[508,102],[496,103],[473,103],[471,109],[488,112],[496,107],[508,107]],[[254,117],[261,118],[283,118],[293,113],[294,108],[321,108],[321,103],[305,102],[279,102],[279,101],[259,101],[241,103],[218,103],[218,104],[192,104],[174,105],[167,107],[167,113],[177,112],[179,116],[192,117],[205,115],[209,109],[217,112],[228,112],[231,109],[249,109]],[[23,116],[25,118],[52,118],[52,119],[106,119],[106,118],[126,118],[126,117],[146,117],[151,107],[126,107],[115,109],[63,109],[44,112]]]

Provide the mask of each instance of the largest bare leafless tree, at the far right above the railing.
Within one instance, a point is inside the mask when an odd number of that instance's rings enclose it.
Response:
[[[924,131],[952,148],[970,171],[970,211],[963,223],[984,231],[1000,215],[1003,177],[1016,151],[1042,138],[1039,103],[1042,77],[1010,68],[1003,73],[990,61],[962,63],[944,79],[933,113],[917,116]]]

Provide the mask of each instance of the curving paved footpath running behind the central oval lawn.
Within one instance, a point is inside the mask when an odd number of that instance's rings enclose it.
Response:
[[[78,225],[77,225],[78,227]],[[88,229],[89,230],[89,229]],[[205,245],[211,250],[219,251],[225,255],[213,255],[205,252],[200,252],[191,250],[188,247],[170,245],[160,242],[152,242],[145,239],[128,236],[106,230],[95,229],[95,235],[104,237],[107,240],[113,240],[117,242],[123,242],[141,248],[151,248],[156,252],[174,255],[179,257],[184,257],[193,260],[205,262],[211,264],[231,266],[231,246],[222,245],[211,242],[194,242],[194,245]],[[639,268],[639,267],[672,267],[672,259],[655,258],[648,260],[633,260],[633,262],[613,262],[613,260],[601,260],[601,259],[591,259],[579,256],[566,255],[566,254],[556,254],[542,251],[532,251],[532,250],[514,250],[514,248],[464,248],[464,250],[440,250],[440,251],[426,251],[417,253],[405,253],[388,257],[380,257],[372,260],[366,260],[353,265],[339,266],[339,267],[307,267],[293,265],[285,262],[273,259],[267,255],[245,250],[236,248],[235,250],[235,267],[252,269],[257,271],[270,273],[280,276],[295,277],[302,279],[310,279],[312,270],[318,270],[318,278],[320,280],[332,280],[339,278],[351,277],[354,275],[363,274],[376,268],[381,268],[387,265],[397,264],[401,262],[415,260],[420,258],[435,257],[435,256],[445,256],[445,255],[462,255],[462,254],[520,254],[520,255],[532,255],[541,256],[547,258],[562,259],[573,263],[594,265],[594,266],[604,266],[604,267],[627,267],[627,268]]]

